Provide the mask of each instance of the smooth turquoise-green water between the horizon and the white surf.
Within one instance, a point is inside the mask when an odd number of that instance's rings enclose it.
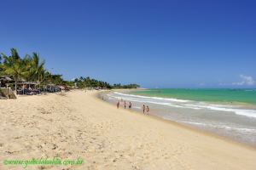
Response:
[[[132,91],[131,94],[220,103],[256,105],[256,89],[182,89],[163,88]]]

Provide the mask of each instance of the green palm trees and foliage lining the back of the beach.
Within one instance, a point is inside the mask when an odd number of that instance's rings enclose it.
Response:
[[[17,82],[38,82],[40,84],[65,85],[77,88],[139,88],[137,84],[110,85],[108,82],[90,77],[79,77],[73,81],[65,81],[61,74],[53,74],[45,69],[45,60],[40,59],[38,53],[26,54],[20,57],[15,48],[10,49],[10,55],[0,54],[0,76],[9,76]]]

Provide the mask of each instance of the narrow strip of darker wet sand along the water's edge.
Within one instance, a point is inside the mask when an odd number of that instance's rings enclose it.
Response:
[[[128,90],[128,89],[127,89]],[[111,104],[110,102],[108,101],[105,101],[105,100],[102,100],[99,98],[98,94],[102,94],[102,93],[108,93],[109,91],[105,91],[105,92],[97,92],[94,97],[96,99],[99,99],[100,101],[104,102],[104,103],[108,103],[108,105],[112,105],[112,106],[115,106],[113,104]],[[201,128],[197,128],[197,127],[193,127],[193,126],[189,126],[189,125],[186,125],[186,124],[182,124],[182,123],[179,123],[179,122],[174,122],[172,120],[169,120],[169,119],[165,119],[161,116],[155,116],[155,115],[144,115],[142,112],[139,112],[139,111],[134,111],[134,110],[129,110],[129,109],[124,109],[122,107],[119,108],[120,110],[123,110],[123,111],[128,111],[128,112],[131,112],[131,113],[135,113],[135,114],[139,114],[139,115],[142,115],[142,116],[146,116],[148,118],[152,118],[154,120],[158,120],[160,122],[164,122],[164,123],[170,123],[174,126],[177,126],[177,127],[182,127],[183,129],[186,129],[186,130],[189,130],[189,131],[193,131],[195,133],[201,133],[203,135],[207,135],[207,136],[211,136],[212,138],[216,138],[216,139],[222,139],[224,141],[227,141],[229,143],[232,143],[232,144],[237,144],[237,145],[240,145],[242,147],[246,147],[247,149],[252,149],[252,150],[255,150],[256,151],[256,145],[253,145],[253,144],[247,144],[247,143],[242,143],[242,142],[239,142],[239,141],[236,141],[234,139],[231,139],[230,137],[227,137],[227,136],[222,136],[222,135],[218,135],[216,133],[211,133],[211,132],[208,132],[206,130],[203,130]]]

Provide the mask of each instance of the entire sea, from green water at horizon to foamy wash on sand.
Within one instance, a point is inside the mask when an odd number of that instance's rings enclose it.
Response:
[[[115,104],[256,146],[256,89],[142,89],[102,94]],[[122,105],[122,103],[121,103]]]

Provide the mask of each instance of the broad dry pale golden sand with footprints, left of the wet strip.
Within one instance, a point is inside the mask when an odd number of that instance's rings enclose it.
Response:
[[[78,157],[82,165],[26,169],[255,169],[256,150],[134,111],[96,92],[0,100],[0,169],[4,160]]]

